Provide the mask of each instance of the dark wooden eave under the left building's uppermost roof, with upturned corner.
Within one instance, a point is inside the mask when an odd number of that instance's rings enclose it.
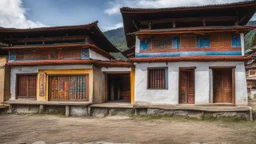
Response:
[[[98,21],[87,25],[58,26],[31,29],[0,28],[0,41],[8,45],[21,43],[43,44],[44,42],[57,41],[85,41],[89,37],[93,44],[103,48],[107,52],[120,52],[102,33],[97,25]],[[68,35],[72,33],[72,35]],[[78,34],[77,34],[78,33]],[[54,35],[54,36],[53,36]]]

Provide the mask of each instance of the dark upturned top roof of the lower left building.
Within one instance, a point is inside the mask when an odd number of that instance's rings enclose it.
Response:
[[[107,52],[120,52],[101,32],[98,27],[98,21],[95,21],[86,25],[74,25],[74,26],[56,26],[56,27],[41,27],[41,28],[29,28],[29,29],[16,29],[16,28],[0,28],[0,41],[9,44],[8,41],[4,41],[9,37],[24,38],[40,38],[42,36],[51,37],[51,35],[66,35],[69,32],[76,32],[89,35],[89,37],[95,42],[95,45],[102,48]]]

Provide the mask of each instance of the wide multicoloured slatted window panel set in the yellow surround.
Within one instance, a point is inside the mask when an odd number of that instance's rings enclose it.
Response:
[[[49,76],[49,100],[88,100],[88,75]]]

